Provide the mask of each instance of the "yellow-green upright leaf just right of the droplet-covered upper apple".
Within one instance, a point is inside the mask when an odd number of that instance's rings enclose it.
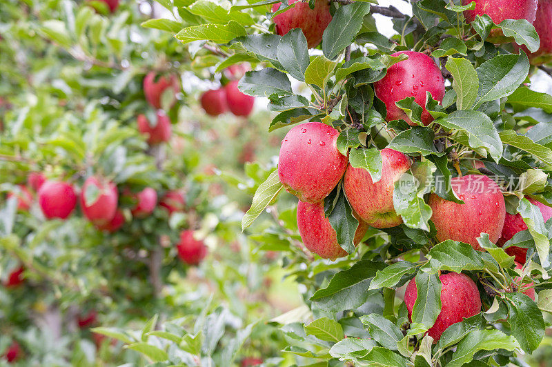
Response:
[[[449,57],[446,70],[453,75],[453,88],[456,91],[456,106],[458,110],[469,110],[479,90],[479,77],[468,59]]]

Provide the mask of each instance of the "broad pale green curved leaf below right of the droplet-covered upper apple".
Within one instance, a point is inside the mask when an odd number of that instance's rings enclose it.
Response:
[[[502,157],[502,140],[489,116],[480,111],[454,111],[447,117],[437,119],[444,128],[457,130],[453,139],[469,146],[486,157],[487,152],[494,161]]]

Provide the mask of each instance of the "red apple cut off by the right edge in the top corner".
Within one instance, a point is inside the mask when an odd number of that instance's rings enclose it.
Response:
[[[540,0],[537,16],[533,26],[540,38],[540,48],[529,52],[526,46],[521,46],[533,65],[541,65],[552,61],[552,0]],[[514,47],[517,45],[514,43]],[[529,129],[527,129],[529,130]]]

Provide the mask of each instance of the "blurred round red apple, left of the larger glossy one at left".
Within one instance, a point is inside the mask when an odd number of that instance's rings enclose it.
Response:
[[[46,181],[38,195],[40,208],[47,219],[66,219],[77,206],[75,189],[67,182]]]

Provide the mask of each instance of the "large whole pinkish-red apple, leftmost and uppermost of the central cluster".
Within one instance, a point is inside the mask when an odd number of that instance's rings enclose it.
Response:
[[[339,132],[322,122],[307,122],[288,131],[279,152],[278,177],[299,200],[315,204],[339,183],[348,159],[337,150]]]

